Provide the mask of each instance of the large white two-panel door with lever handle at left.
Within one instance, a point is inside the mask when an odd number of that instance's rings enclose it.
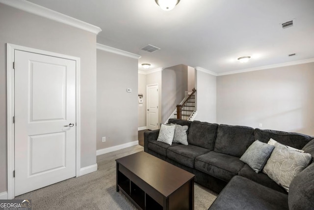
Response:
[[[15,50],[15,196],[76,176],[76,61]]]

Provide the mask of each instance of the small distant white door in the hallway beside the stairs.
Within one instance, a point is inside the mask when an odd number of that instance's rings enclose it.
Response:
[[[147,86],[147,129],[157,130],[158,126],[158,85]]]

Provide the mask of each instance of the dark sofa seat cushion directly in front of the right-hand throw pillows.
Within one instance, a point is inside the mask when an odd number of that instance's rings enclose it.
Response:
[[[250,166],[248,165],[244,165],[243,168],[239,171],[238,175],[242,176],[242,177],[245,177],[249,180],[252,180],[252,181],[255,181],[259,184],[262,184],[266,187],[269,187],[271,189],[274,189],[278,192],[282,192],[282,193],[285,193],[287,194],[287,191],[279,186],[274,180],[270,179],[267,174],[264,174],[264,173],[255,173],[255,171],[253,171],[251,169]]]

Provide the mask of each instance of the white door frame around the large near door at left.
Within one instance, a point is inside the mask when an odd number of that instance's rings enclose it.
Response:
[[[13,171],[15,170],[15,153],[14,153],[14,51],[21,50],[30,53],[42,54],[62,59],[76,61],[76,177],[80,176],[80,58],[53,53],[49,51],[19,46],[6,43],[6,93],[7,93],[7,197],[13,199],[15,197],[15,178]]]

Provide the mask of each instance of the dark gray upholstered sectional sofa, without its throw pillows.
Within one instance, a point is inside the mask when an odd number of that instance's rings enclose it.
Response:
[[[266,174],[240,160],[255,141],[270,138],[314,156],[314,137],[200,121],[170,119],[188,125],[188,145],[158,142],[159,130],[144,133],[144,151],[195,174],[195,182],[220,193],[210,210],[314,210],[314,163],[291,182],[289,193]]]

